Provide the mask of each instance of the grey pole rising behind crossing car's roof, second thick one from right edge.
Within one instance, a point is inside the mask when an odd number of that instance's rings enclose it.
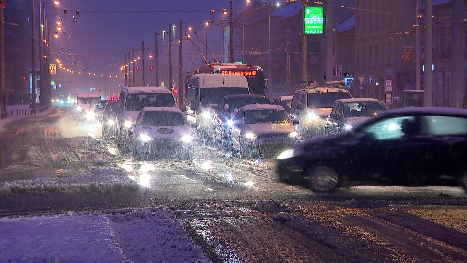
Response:
[[[463,11],[463,10],[462,10]],[[425,73],[424,73],[424,101],[423,106],[433,106],[433,0],[426,0],[425,3]],[[453,58],[451,58],[453,59]],[[452,69],[451,69],[452,70]]]

